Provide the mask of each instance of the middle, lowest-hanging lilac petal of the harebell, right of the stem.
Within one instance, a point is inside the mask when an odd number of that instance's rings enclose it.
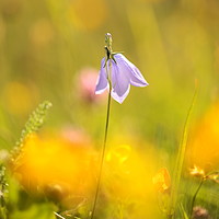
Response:
[[[120,70],[119,64],[112,61],[112,97],[123,103],[130,90],[129,76]]]

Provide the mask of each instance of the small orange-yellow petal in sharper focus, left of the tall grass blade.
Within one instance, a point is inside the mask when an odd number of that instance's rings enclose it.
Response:
[[[160,193],[166,193],[171,187],[171,176],[166,168],[162,168],[152,178],[155,189]]]

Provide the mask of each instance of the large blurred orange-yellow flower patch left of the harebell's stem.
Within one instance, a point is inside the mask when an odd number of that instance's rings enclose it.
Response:
[[[92,147],[62,137],[32,135],[13,170],[27,189],[61,199],[68,195],[87,197],[93,187],[95,166]]]

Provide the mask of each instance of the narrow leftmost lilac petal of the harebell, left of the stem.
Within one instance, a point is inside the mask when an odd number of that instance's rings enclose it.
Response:
[[[104,65],[105,65],[105,58],[103,58],[101,60],[101,71],[100,71],[96,88],[95,88],[95,94],[103,93],[106,90],[107,84],[108,84],[108,80],[106,78],[106,76],[107,76],[106,69],[105,69]]]

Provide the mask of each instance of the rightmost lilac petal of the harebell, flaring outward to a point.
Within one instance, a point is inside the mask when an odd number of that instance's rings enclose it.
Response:
[[[146,81],[139,69],[134,64],[131,64],[124,55],[116,54],[114,58],[118,64],[120,71],[129,74],[131,85],[135,87],[149,85],[149,83]]]

